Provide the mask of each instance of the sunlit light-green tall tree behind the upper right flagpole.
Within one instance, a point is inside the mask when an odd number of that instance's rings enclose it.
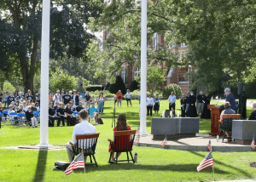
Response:
[[[167,9],[162,12],[158,2],[160,1],[148,1],[148,42],[152,42],[155,32],[164,35],[166,24],[172,22],[162,20],[168,15]],[[160,11],[156,11],[156,7]],[[90,19],[90,30],[104,30],[108,34],[103,43],[99,40],[90,43],[87,56],[96,62],[96,77],[105,79],[108,75],[108,82],[114,82],[115,73],[121,71],[124,64],[140,67],[140,20],[141,5],[135,0],[112,1],[104,6],[100,17]],[[183,61],[179,61],[182,60],[183,54],[179,58],[172,49],[163,45],[152,47],[152,43],[149,43],[147,56],[148,62],[165,62],[167,68],[172,65],[185,65]]]

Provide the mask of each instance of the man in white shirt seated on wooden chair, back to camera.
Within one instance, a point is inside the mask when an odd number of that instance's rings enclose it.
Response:
[[[82,120],[81,123],[77,124],[73,128],[72,142],[67,142],[67,156],[69,162],[73,162],[73,154],[72,154],[72,145],[77,144],[76,135],[77,134],[96,134],[96,128],[88,122],[88,112],[84,109],[79,112],[80,118]],[[90,142],[89,142],[90,144]],[[85,146],[84,149],[89,149],[90,145]],[[84,160],[86,157],[84,156]]]

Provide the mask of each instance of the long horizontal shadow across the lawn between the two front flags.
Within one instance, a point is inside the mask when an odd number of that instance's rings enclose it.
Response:
[[[170,165],[143,165],[133,163],[106,164],[98,168],[86,167],[86,173],[95,171],[119,171],[119,170],[154,170],[154,171],[172,171],[172,172],[197,172],[196,168],[199,164],[170,164]],[[74,173],[84,173],[84,170],[75,170]],[[212,173],[212,168],[209,168],[201,173]],[[220,169],[214,169],[215,173],[227,173]]]

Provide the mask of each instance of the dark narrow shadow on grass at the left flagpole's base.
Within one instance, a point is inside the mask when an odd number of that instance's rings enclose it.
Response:
[[[38,164],[33,182],[43,181],[48,151],[38,152]]]

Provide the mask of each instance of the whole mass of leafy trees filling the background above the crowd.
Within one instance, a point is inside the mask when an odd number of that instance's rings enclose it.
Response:
[[[170,48],[149,43],[148,62],[164,62],[168,69],[193,65],[191,88],[202,82],[208,92],[218,89],[224,74],[229,79],[222,86],[255,82],[255,8],[253,0],[148,1],[148,42],[158,33],[165,35],[168,46],[189,44],[179,57]],[[2,0],[0,9],[0,86],[15,79],[33,90],[40,66],[42,1]],[[114,82],[123,64],[140,66],[140,1],[57,0],[50,17],[52,72],[61,65],[73,76],[84,74],[92,81],[108,75]],[[107,40],[102,43],[87,28],[107,31]]]

